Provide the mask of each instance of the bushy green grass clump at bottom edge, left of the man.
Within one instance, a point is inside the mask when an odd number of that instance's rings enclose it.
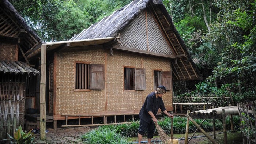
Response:
[[[115,129],[92,130],[80,136],[86,144],[129,144],[127,137],[121,136]]]

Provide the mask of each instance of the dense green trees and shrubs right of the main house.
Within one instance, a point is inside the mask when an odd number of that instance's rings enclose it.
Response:
[[[176,95],[218,94],[232,96],[235,103],[256,99],[255,4],[256,0],[170,0],[177,30],[203,76],[199,83],[174,83]]]

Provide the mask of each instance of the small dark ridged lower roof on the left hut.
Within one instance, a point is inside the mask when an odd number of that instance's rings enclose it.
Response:
[[[15,75],[40,75],[40,72],[22,61],[0,60],[0,73]]]

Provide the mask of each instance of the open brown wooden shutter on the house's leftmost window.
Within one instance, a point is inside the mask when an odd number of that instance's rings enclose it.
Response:
[[[104,65],[91,64],[90,65],[90,89],[91,90],[102,90],[105,89],[105,74]]]

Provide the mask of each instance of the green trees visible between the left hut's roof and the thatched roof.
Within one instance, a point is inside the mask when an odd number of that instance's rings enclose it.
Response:
[[[131,0],[10,0],[39,37],[65,41]]]

